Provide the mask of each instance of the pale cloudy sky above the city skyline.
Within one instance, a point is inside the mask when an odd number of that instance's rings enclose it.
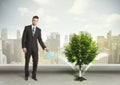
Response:
[[[51,32],[64,36],[80,31],[89,32],[93,39],[120,34],[120,0],[0,0],[0,31],[8,29],[9,38],[21,35],[34,15],[39,16],[43,41]]]

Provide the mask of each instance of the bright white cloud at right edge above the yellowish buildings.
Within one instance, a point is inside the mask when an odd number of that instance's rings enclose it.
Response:
[[[111,30],[113,34],[120,34],[120,14],[113,13],[109,15],[103,15],[96,19],[99,23],[89,23],[85,25],[83,30],[87,30],[94,36],[106,35]],[[91,21],[92,22],[92,21]]]

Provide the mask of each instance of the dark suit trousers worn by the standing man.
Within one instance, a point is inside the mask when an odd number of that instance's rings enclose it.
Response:
[[[32,76],[36,77],[37,65],[38,65],[38,51],[34,50],[33,48],[27,50],[27,53],[25,53],[25,76],[29,76],[29,61],[31,55],[33,61]]]

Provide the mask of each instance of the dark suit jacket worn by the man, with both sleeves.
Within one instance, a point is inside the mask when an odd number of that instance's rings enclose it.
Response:
[[[34,36],[32,36],[32,25],[25,26],[22,35],[22,48],[27,48],[27,50],[30,50],[32,48],[38,51],[37,40],[43,49],[46,48],[41,38],[41,29],[36,27]]]

